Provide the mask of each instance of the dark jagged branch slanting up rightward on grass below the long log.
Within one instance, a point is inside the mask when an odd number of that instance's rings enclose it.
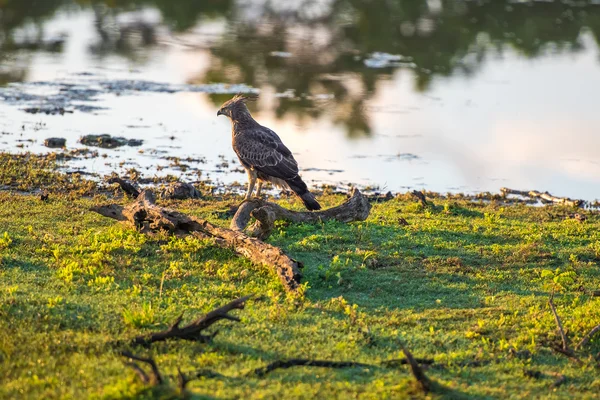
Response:
[[[191,341],[209,342],[217,332],[211,335],[203,335],[202,331],[222,319],[239,322],[239,318],[229,315],[229,312],[235,309],[241,310],[246,305],[246,301],[251,296],[245,296],[234,300],[222,307],[219,307],[208,314],[198,318],[184,327],[180,327],[182,317],[180,316],[167,329],[161,332],[155,332],[149,335],[138,336],[133,340],[133,344],[149,345],[154,342],[162,342],[167,339],[183,339]]]

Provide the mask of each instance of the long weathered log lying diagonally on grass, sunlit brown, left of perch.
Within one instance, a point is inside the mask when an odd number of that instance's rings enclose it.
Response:
[[[243,232],[221,228],[206,220],[159,207],[150,190],[144,190],[128,206],[110,204],[92,207],[91,210],[108,218],[129,221],[142,232],[166,230],[174,234],[197,234],[213,238],[220,247],[233,249],[254,263],[270,266],[288,290],[297,289],[302,278],[302,264],[290,258],[280,248],[249,237]]]

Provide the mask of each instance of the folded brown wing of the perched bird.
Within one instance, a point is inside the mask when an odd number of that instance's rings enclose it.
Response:
[[[298,163],[279,136],[263,126],[240,132],[233,149],[242,161],[255,170],[280,179],[298,176]]]

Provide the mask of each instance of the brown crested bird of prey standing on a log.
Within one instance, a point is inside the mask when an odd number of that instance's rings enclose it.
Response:
[[[248,173],[246,199],[252,197],[258,180],[256,196],[260,196],[264,182],[271,182],[277,187],[291,189],[309,210],[320,210],[321,205],[298,175],[298,163],[292,152],[275,132],[260,125],[250,115],[246,107],[249,99],[238,94],[217,111],[217,116],[226,115],[231,120],[233,150]]]

